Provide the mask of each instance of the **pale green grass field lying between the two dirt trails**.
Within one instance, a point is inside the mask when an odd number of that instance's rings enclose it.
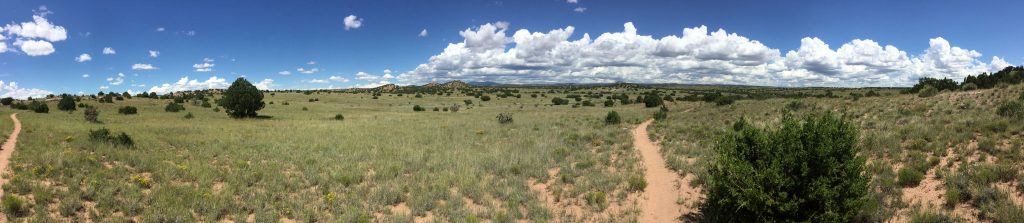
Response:
[[[312,97],[319,100],[309,102]],[[612,195],[600,202],[606,206],[629,193],[628,178],[642,173],[625,127],[646,119],[647,109],[615,106],[628,122],[605,125],[612,107],[548,106],[549,98],[484,102],[278,92],[266,95],[275,103],[260,112],[271,118],[253,120],[191,103],[184,106],[194,117],[182,119],[182,113],[164,110],[170,100],[86,100],[100,109],[101,124],[85,122],[82,112],[19,113],[25,129],[11,165],[17,180],[4,187],[50,197],[36,196],[35,207],[57,207],[34,210],[27,219],[57,212],[65,220],[93,221],[217,221],[250,214],[257,221],[408,219],[409,213],[390,212],[400,203],[412,216],[430,212],[442,221],[553,221],[565,217],[554,216],[526,184],[546,181],[550,168],[573,179],[551,186],[562,198]],[[474,105],[458,113],[430,109],[465,99]],[[415,113],[413,104],[427,112]],[[137,106],[138,115],[118,115],[124,105]],[[499,124],[500,113],[513,114],[515,122]],[[344,121],[335,120],[338,114]],[[89,131],[100,128],[127,133],[134,148],[90,141]],[[464,198],[484,209],[471,210]]]

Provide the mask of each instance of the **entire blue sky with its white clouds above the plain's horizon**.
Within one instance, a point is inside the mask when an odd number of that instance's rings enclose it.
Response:
[[[218,88],[240,76],[272,89],[447,80],[905,86],[1024,63],[1022,1],[2,5],[0,95],[20,97]]]

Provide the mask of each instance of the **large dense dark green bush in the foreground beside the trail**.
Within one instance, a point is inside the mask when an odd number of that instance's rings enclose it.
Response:
[[[849,222],[867,194],[857,129],[830,113],[743,127],[714,147],[703,220]]]

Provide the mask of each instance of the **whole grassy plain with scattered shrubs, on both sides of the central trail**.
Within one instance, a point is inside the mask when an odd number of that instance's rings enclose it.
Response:
[[[651,126],[651,138],[694,186],[710,148],[740,117],[771,126],[782,114],[831,110],[859,127],[868,158],[871,192],[858,221],[1013,222],[1024,219],[1024,125],[995,110],[1022,89],[918,97],[899,89],[535,87],[489,101],[460,92],[275,92],[264,98],[267,118],[250,120],[193,103],[164,112],[170,99],[84,99],[101,110],[100,124],[50,101],[50,114],[0,108],[0,131],[10,131],[13,112],[24,126],[3,188],[29,204],[24,214],[5,214],[31,222],[632,222],[639,191],[629,179],[644,170],[630,128],[657,108],[601,102],[658,90],[751,98],[666,101],[669,115]],[[880,96],[864,97],[868,91]],[[592,99],[596,106],[551,105],[588,93],[603,96]],[[433,110],[452,104],[462,109]],[[138,115],[117,114],[124,105]],[[624,123],[605,125],[609,110]],[[514,122],[499,124],[501,113]],[[135,146],[90,141],[99,128],[126,132]]]

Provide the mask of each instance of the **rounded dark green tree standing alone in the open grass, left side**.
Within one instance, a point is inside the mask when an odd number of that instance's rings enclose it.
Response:
[[[245,78],[239,78],[224,91],[224,96],[218,101],[224,112],[231,118],[255,118],[256,112],[263,109],[263,92],[249,83]]]

